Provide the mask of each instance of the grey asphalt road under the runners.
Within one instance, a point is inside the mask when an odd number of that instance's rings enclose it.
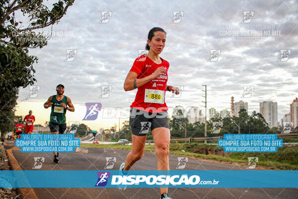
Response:
[[[8,142],[7,144],[13,144]],[[6,145],[12,148],[14,145]],[[34,157],[44,157],[38,170],[107,170],[106,157],[115,157],[111,170],[118,170],[129,150],[88,148],[88,153],[60,153],[58,165],[53,163],[53,153],[21,153],[12,150],[23,170],[34,170]],[[177,155],[170,154],[170,169],[176,170]],[[145,152],[133,170],[156,170],[157,158],[153,152]],[[236,164],[221,164],[189,158],[184,170],[246,170]],[[239,177],[240,178],[240,177]],[[96,183],[96,182],[95,182]],[[159,188],[129,188],[124,192],[114,188],[34,188],[39,199],[159,199]],[[297,188],[170,188],[172,199],[298,199]]]

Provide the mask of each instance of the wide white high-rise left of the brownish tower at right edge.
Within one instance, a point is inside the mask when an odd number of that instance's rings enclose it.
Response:
[[[270,128],[277,127],[277,102],[263,101],[260,102],[260,113],[265,118]]]

